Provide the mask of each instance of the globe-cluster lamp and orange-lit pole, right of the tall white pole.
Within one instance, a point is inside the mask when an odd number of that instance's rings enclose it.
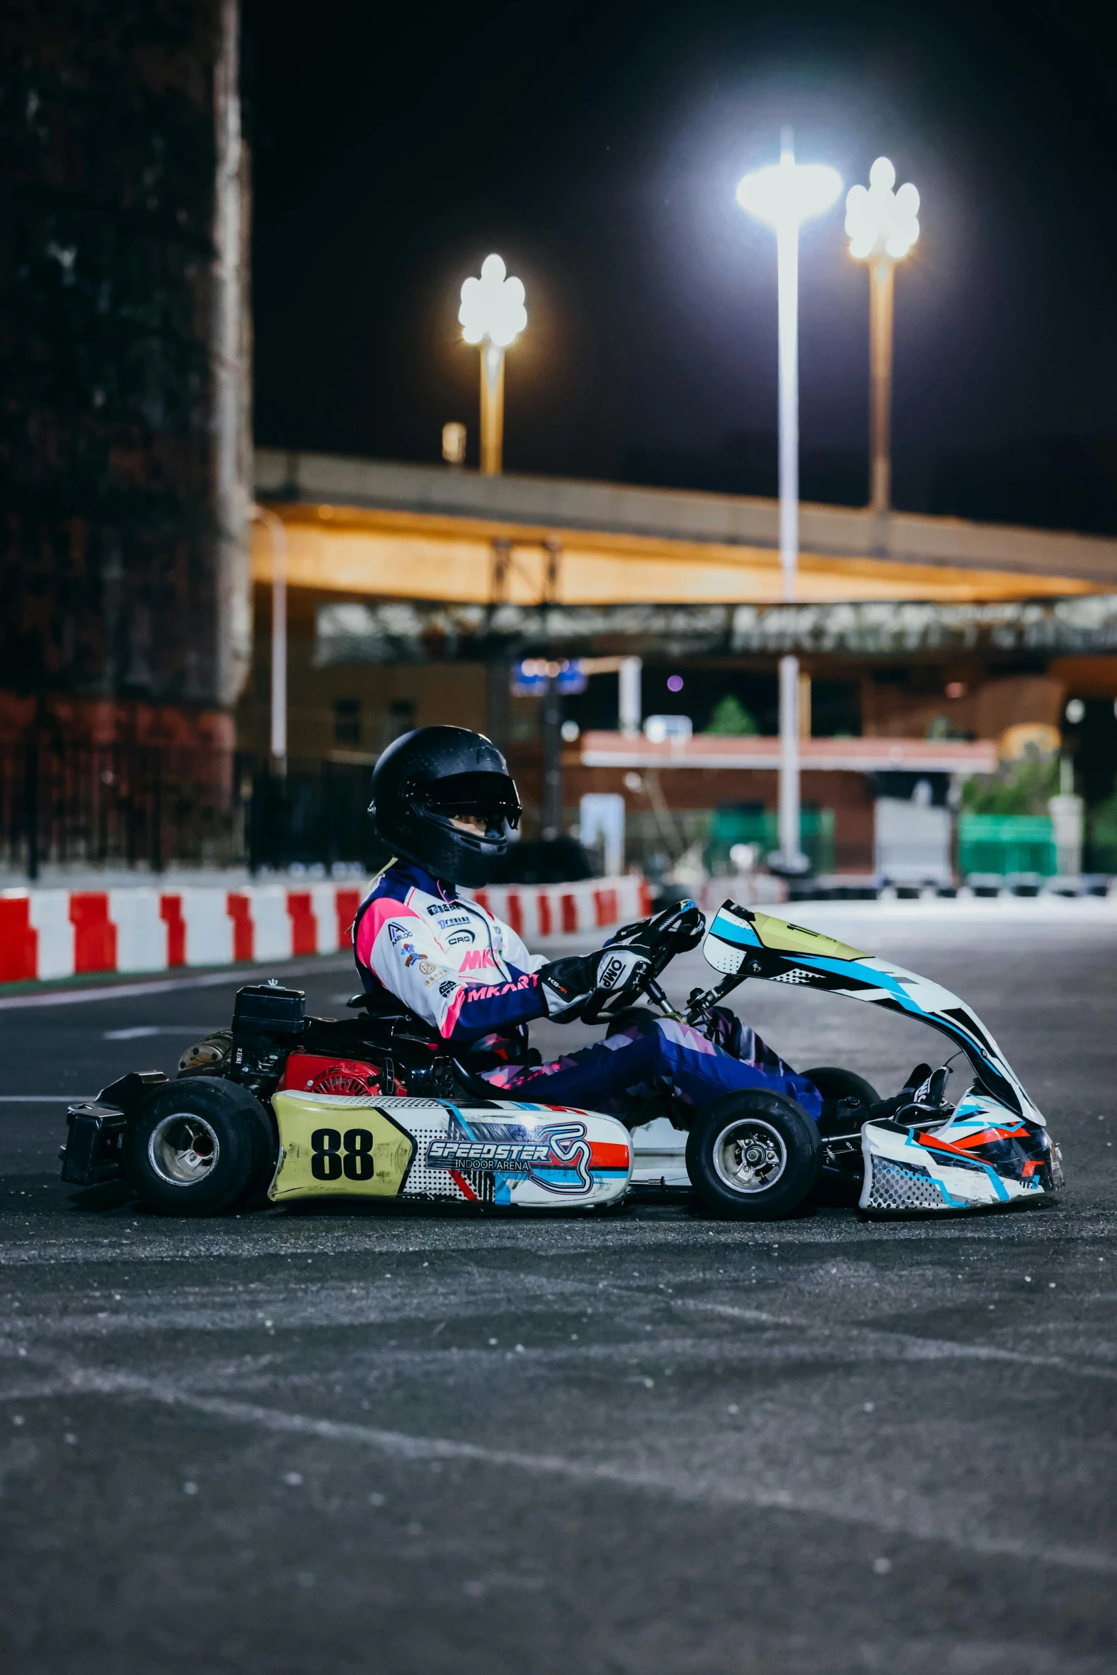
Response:
[[[869,506],[878,519],[874,546],[883,544],[881,521],[893,504],[893,278],[896,263],[919,236],[919,193],[911,181],[893,191],[896,169],[878,157],[869,184],[851,186],[846,198],[849,255],[869,263]]]

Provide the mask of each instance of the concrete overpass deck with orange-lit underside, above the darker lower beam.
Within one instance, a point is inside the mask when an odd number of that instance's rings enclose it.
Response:
[[[291,586],[323,598],[576,608],[775,605],[777,502],[325,454],[256,452]],[[799,596],[975,603],[1117,588],[1117,541],[804,504]],[[253,573],[270,578],[256,528]]]

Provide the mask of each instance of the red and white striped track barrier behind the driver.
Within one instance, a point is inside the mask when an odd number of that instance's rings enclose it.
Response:
[[[338,953],[352,945],[363,894],[357,884],[327,883],[3,889],[0,983]],[[546,936],[593,935],[651,911],[641,878],[501,884],[474,894],[529,946]]]

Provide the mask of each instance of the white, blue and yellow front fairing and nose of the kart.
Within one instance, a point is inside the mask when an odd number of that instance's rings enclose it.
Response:
[[[990,1030],[958,995],[819,931],[727,903],[703,946],[725,973],[802,985],[918,1018],[946,1035],[975,1080],[941,1122],[866,1122],[861,1208],[976,1209],[1035,1201],[1063,1184],[1058,1147]]]

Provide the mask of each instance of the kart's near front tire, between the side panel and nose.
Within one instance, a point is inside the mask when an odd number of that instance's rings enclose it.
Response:
[[[762,1136],[767,1131],[770,1147],[777,1154],[782,1151],[782,1166],[769,1186],[735,1189],[718,1171],[718,1157],[723,1167],[732,1164],[728,1147],[734,1144],[732,1129],[739,1124]],[[785,1094],[759,1087],[722,1094],[698,1114],[687,1139],[690,1184],[707,1209],[734,1221],[779,1221],[790,1216],[811,1193],[821,1161],[819,1129],[812,1117]]]

